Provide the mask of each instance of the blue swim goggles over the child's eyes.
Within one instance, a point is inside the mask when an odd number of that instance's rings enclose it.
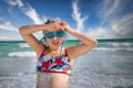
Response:
[[[49,32],[49,33],[44,34],[44,36],[45,36],[47,38],[53,38],[54,36],[57,36],[57,37],[62,37],[62,36],[64,36],[64,35],[65,35],[65,33],[62,32],[62,31],[57,31],[55,33]]]

